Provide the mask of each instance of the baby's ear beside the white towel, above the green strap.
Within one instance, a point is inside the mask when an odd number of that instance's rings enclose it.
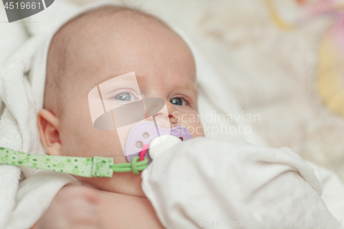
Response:
[[[37,115],[39,135],[45,151],[49,155],[61,155],[60,122],[47,109],[42,109]]]

